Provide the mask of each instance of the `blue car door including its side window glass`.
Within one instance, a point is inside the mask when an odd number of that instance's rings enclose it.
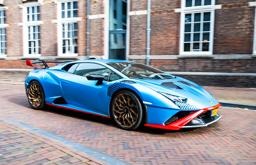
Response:
[[[97,81],[87,80],[86,75],[92,73],[103,75],[103,83],[96,85]],[[64,97],[70,104],[107,113],[108,86],[112,84],[108,82],[109,73],[110,70],[100,64],[80,63],[73,74],[61,80]]]

